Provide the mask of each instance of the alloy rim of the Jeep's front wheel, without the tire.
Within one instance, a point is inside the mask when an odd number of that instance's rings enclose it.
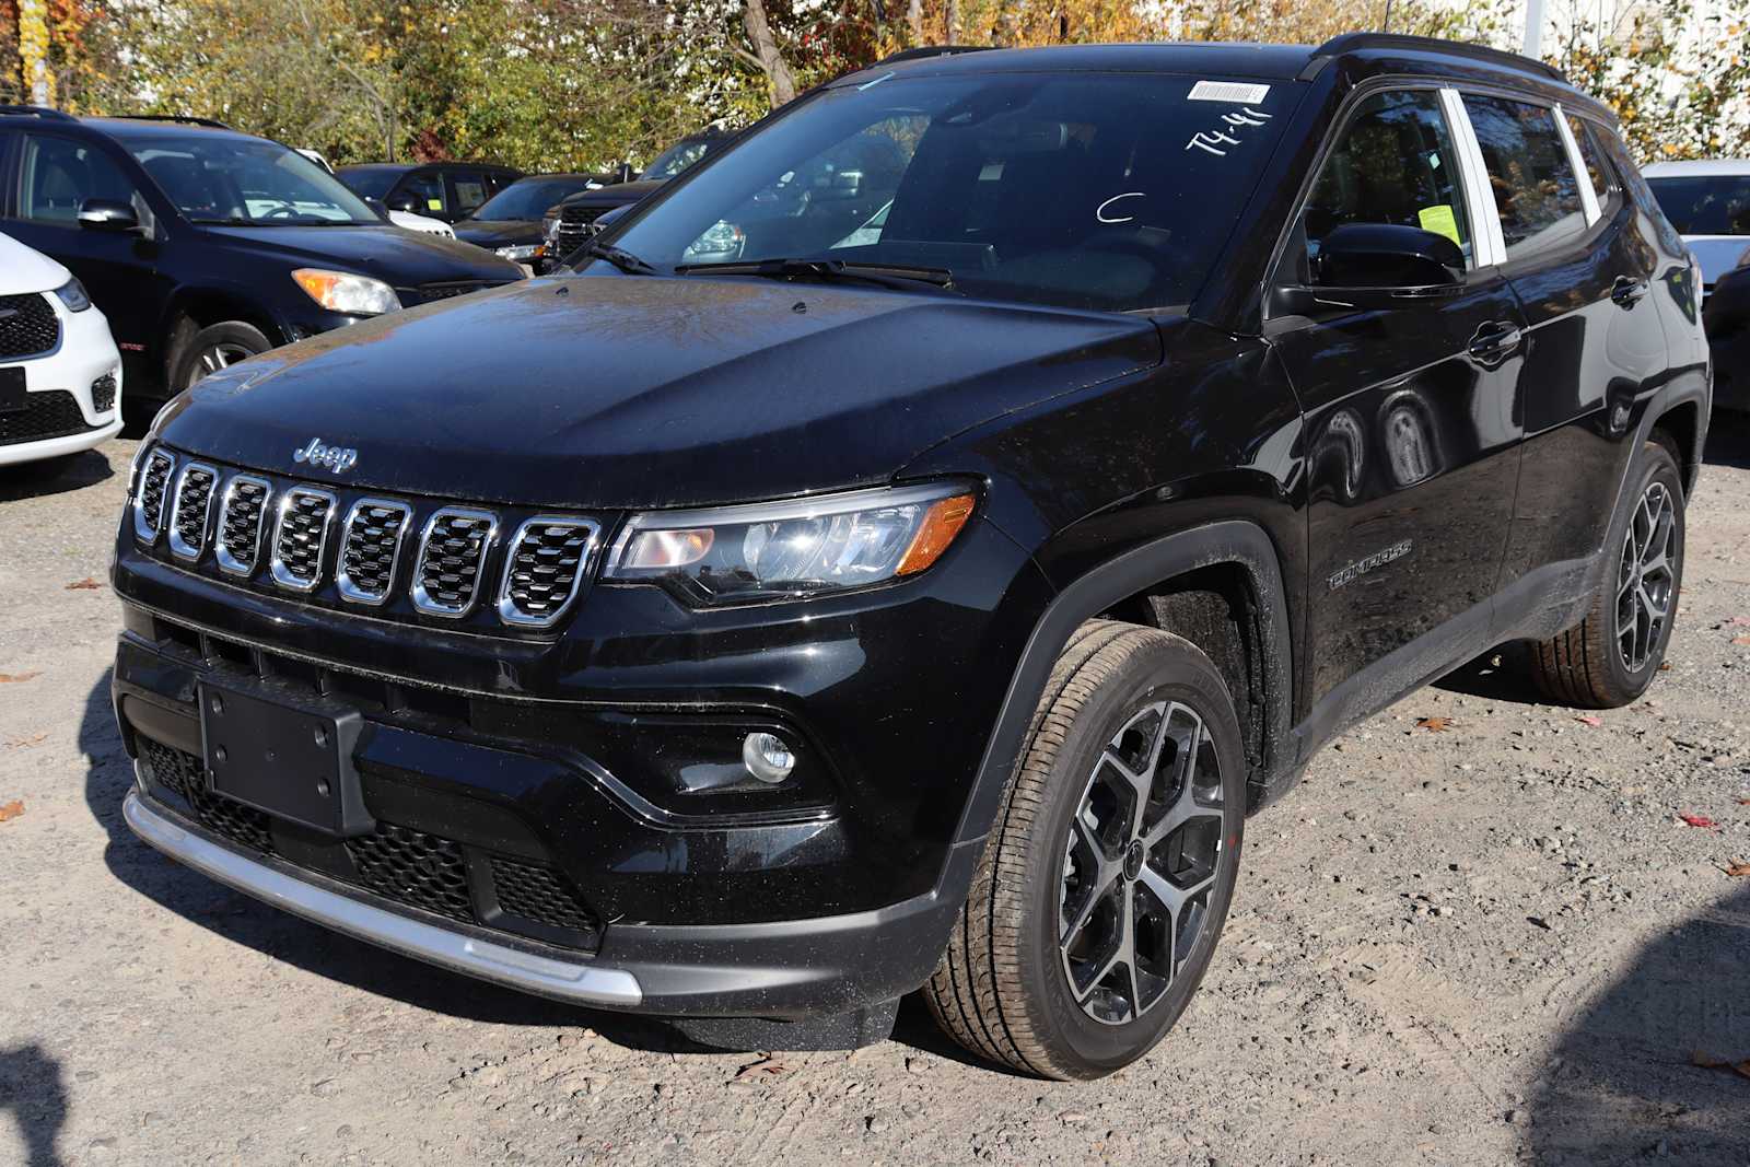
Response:
[[[1069,824],[1059,954],[1082,1010],[1122,1025],[1158,1004],[1209,922],[1222,857],[1222,759],[1180,702],[1132,714]]]

